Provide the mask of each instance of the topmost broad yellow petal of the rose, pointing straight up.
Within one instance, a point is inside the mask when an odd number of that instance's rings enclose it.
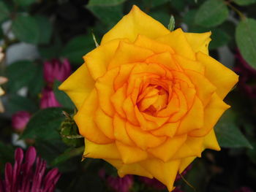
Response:
[[[133,42],[138,34],[155,39],[169,33],[170,31],[165,26],[134,5],[129,14],[125,15],[116,26],[104,35],[101,44],[117,38],[127,38]]]

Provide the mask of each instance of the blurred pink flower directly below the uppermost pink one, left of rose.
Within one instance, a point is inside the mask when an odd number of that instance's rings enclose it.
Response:
[[[56,99],[56,96],[51,88],[44,88],[42,90],[42,98],[40,101],[40,108],[61,107],[61,104]]]

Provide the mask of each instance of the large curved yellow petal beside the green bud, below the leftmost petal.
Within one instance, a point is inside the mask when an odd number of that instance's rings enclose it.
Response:
[[[86,139],[91,140],[91,142],[97,142],[99,144],[113,142],[94,123],[93,115],[97,110],[97,105],[97,93],[94,89],[75,115],[75,123],[78,124],[80,134],[86,137]]]

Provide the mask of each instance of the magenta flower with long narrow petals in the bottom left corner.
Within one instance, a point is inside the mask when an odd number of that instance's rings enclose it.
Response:
[[[37,157],[34,147],[29,147],[23,163],[23,150],[15,150],[15,164],[5,165],[4,180],[0,179],[1,192],[53,192],[61,174],[51,169],[45,175],[46,161]]]

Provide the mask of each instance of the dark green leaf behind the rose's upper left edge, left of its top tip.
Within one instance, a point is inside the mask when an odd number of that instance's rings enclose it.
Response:
[[[86,6],[102,23],[112,28],[123,17],[122,4],[116,6]]]

